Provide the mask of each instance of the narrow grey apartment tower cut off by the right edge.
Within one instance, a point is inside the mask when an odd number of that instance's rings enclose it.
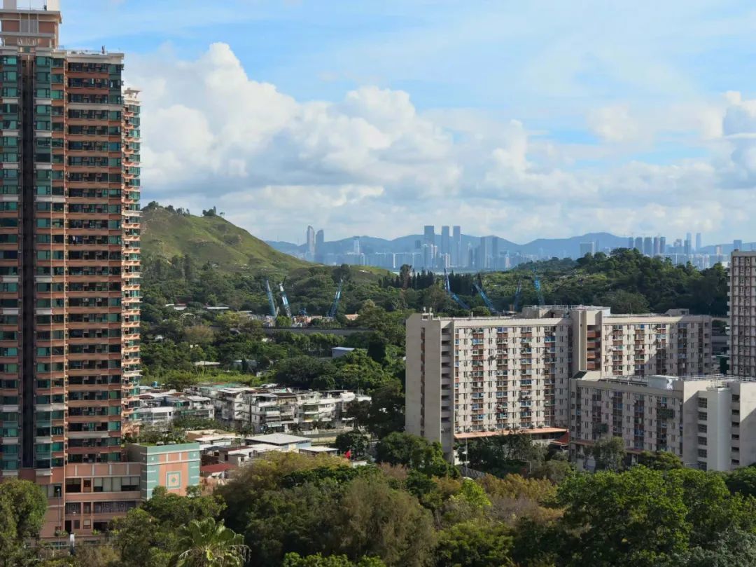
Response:
[[[756,252],[730,258],[730,373],[756,377]]]

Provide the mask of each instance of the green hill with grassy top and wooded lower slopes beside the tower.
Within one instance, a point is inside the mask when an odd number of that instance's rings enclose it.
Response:
[[[143,319],[160,320],[153,308],[166,303],[228,305],[237,310],[269,312],[268,279],[280,307],[278,284],[286,279],[294,312],[305,309],[324,315],[339,281],[343,303],[339,313],[354,313],[382,291],[385,269],[366,266],[321,266],[278,252],[229,223],[215,209],[196,217],[182,209],[152,202],[142,211]]]

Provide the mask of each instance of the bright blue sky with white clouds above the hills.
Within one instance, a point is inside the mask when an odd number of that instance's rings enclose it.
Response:
[[[752,2],[61,4],[142,89],[145,204],[298,243],[756,240]]]

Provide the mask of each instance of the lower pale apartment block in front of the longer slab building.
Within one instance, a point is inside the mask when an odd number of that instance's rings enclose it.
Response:
[[[756,463],[756,381],[723,375],[604,377],[570,382],[570,450],[579,465],[602,438],[627,453],[668,451],[686,466],[727,471]]]

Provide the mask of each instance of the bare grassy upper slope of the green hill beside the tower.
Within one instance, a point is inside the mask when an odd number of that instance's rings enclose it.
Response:
[[[198,264],[211,262],[222,269],[288,273],[311,266],[283,254],[259,238],[213,213],[195,217],[150,203],[142,210],[141,247],[145,255],[170,260],[190,255]]]

